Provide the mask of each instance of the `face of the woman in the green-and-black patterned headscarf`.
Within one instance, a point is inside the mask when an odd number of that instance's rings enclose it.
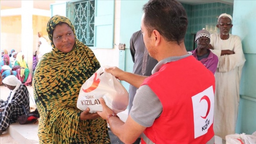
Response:
[[[74,32],[68,24],[57,25],[53,30],[53,44],[63,53],[69,53],[75,45]]]

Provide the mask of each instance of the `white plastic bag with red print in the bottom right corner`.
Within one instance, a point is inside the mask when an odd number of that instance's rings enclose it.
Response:
[[[226,135],[226,144],[256,144],[256,132],[249,134],[229,134]]]

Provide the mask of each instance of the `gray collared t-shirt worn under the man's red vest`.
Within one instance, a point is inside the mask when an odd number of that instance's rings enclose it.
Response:
[[[192,53],[188,52],[188,54],[183,56],[163,59],[156,64],[155,68],[152,70],[152,74],[158,72],[163,64],[184,59],[191,55]],[[160,116],[162,111],[163,106],[158,96],[155,95],[151,88],[148,85],[140,86],[135,94],[133,107],[130,111],[130,116],[133,120],[144,127],[150,127],[153,125],[155,119]]]

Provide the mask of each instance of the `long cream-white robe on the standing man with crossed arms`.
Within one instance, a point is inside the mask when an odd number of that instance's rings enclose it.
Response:
[[[240,37],[229,34],[229,39],[222,40],[219,33],[211,34],[212,52],[219,58],[215,72],[214,122],[215,135],[225,139],[235,133],[235,126],[240,101],[240,78],[245,56]],[[221,50],[232,50],[235,54],[222,55]]]

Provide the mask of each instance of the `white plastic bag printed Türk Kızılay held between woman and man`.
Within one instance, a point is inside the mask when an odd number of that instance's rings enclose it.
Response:
[[[99,98],[103,98],[106,105],[114,113],[123,112],[129,103],[129,96],[123,85],[112,74],[105,72],[101,67],[82,85],[77,108],[84,111],[87,107],[90,112],[102,111]]]

